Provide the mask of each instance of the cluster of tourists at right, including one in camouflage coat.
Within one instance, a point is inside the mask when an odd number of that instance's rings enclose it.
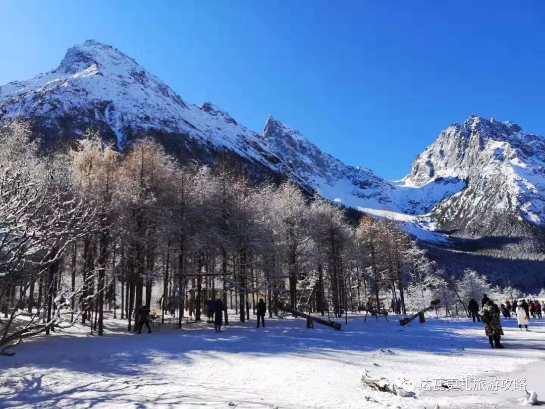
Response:
[[[518,328],[522,331],[524,326],[529,331],[530,316],[532,318],[541,318],[541,311],[545,309],[545,303],[538,300],[521,299],[505,300],[505,304],[500,306],[495,304],[486,294],[483,294],[481,308],[474,298],[468,303],[468,310],[473,322],[483,322],[485,324],[485,334],[488,336],[490,347],[504,348],[501,344],[501,335],[504,330],[501,328],[500,312],[505,318],[511,318],[511,313],[517,317]]]

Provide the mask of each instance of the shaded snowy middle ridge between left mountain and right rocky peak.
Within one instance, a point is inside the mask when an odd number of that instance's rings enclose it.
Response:
[[[421,239],[445,241],[444,235],[429,232],[428,219],[419,216],[464,189],[465,181],[451,177],[430,179],[420,185],[408,180],[386,181],[365,167],[349,166],[323,153],[299,131],[272,117],[262,135],[286,159],[289,169],[296,169],[298,176],[326,199],[372,216],[398,220]]]

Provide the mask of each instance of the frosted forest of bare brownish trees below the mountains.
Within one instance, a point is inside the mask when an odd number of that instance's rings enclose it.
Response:
[[[252,183],[227,156],[180,164],[152,140],[119,153],[94,134],[43,154],[27,124],[0,130],[2,354],[76,321],[102,335],[105,311],[132,330],[138,305],[177,327],[210,296],[241,321],[258,298],[270,316],[284,303],[338,317],[370,299],[401,299],[404,314],[433,298],[453,315],[483,289],[502,291],[438,270],[395,221],[347,217],[291,182]]]

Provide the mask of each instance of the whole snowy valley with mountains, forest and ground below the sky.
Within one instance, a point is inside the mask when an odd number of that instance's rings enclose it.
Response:
[[[471,115],[399,181],[311,139],[95,40],[0,86],[0,407],[543,399],[543,137]]]

